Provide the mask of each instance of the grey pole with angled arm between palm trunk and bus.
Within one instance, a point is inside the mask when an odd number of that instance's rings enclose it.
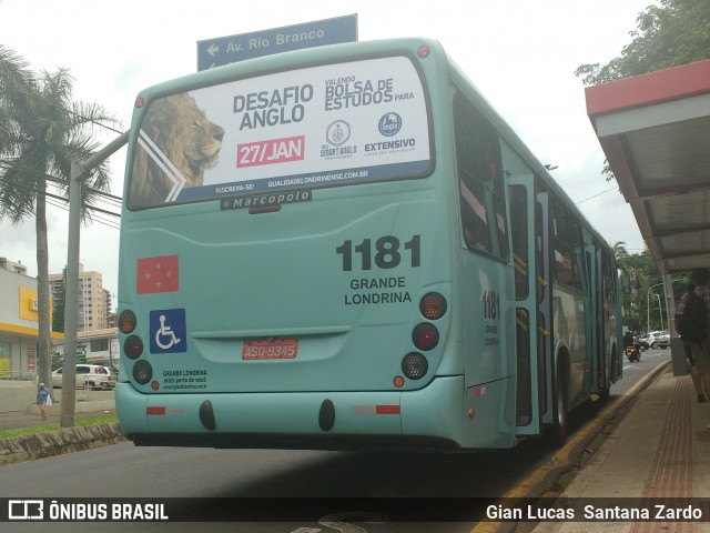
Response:
[[[77,322],[79,318],[79,244],[81,233],[81,185],[91,170],[129,141],[122,133],[83,163],[71,163],[69,182],[69,240],[67,244],[67,300],[64,301],[64,370],[60,425],[73,428],[77,410]]]

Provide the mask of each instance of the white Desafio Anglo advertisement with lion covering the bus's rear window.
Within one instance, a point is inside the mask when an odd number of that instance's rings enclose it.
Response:
[[[428,174],[422,80],[405,57],[327,64],[150,102],[129,207]]]

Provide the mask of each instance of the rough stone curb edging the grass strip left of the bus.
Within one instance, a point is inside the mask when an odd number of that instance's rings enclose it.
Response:
[[[118,422],[64,428],[0,441],[0,466],[125,442]]]

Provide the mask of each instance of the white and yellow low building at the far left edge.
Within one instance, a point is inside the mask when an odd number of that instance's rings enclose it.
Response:
[[[52,342],[63,338],[51,333]],[[0,375],[33,376],[38,340],[37,279],[27,275],[21,263],[0,258]]]

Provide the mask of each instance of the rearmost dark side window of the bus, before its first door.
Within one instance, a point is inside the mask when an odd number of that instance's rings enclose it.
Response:
[[[454,130],[466,248],[507,259],[508,234],[498,135],[459,93],[454,97]]]

